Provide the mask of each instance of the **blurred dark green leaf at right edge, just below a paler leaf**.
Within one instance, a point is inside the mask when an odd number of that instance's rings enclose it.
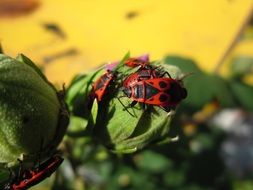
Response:
[[[230,81],[231,91],[237,102],[246,110],[253,110],[253,87],[238,80]]]

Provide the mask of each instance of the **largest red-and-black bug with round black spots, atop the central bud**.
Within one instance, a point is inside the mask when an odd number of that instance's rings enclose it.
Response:
[[[130,107],[137,102],[160,106],[169,112],[186,98],[187,91],[179,80],[172,78],[151,78],[140,80],[122,87],[125,95],[133,100]]]

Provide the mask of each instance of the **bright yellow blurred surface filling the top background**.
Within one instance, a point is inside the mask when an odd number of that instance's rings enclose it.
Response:
[[[235,54],[253,55],[253,38],[238,41],[252,30],[252,7],[252,0],[0,0],[0,42],[56,84],[127,51],[189,57],[213,72]]]

